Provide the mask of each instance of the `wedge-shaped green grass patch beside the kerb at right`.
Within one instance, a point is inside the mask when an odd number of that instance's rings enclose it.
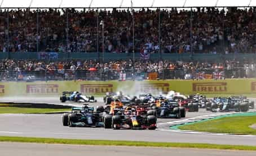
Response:
[[[256,130],[249,127],[254,123],[256,123],[256,116],[225,117],[186,124],[179,126],[179,129],[199,132],[232,133],[236,135],[256,135]]]

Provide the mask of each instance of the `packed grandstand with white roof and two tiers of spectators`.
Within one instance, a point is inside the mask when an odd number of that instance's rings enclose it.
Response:
[[[139,77],[135,73],[255,77],[255,6],[224,0],[2,0],[0,59],[7,60],[0,63],[1,79],[23,79],[27,71],[39,79],[90,79],[90,68],[99,80],[118,79],[121,71],[131,79]]]

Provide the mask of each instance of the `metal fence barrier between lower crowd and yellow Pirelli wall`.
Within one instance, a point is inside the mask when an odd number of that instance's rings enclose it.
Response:
[[[256,71],[244,68],[235,68],[232,70],[221,70],[223,75],[217,79],[223,78],[256,78]],[[144,79],[209,79],[214,78],[214,72],[220,72],[218,69],[164,69],[151,72],[140,71],[139,69],[102,69],[96,71],[90,70],[40,70],[40,71],[16,71],[1,70],[1,81],[68,81],[68,80],[86,80],[86,81],[111,81],[111,80],[136,80]]]

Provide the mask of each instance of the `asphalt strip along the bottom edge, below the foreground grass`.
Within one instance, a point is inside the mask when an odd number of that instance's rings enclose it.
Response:
[[[14,148],[15,147],[15,148]],[[15,150],[14,150],[15,149]],[[104,155],[104,156],[153,156],[153,155],[209,155],[209,156],[255,156],[256,151],[179,149],[179,148],[144,148],[130,146],[85,146],[60,144],[27,144],[0,142],[1,156],[45,156],[45,155]]]

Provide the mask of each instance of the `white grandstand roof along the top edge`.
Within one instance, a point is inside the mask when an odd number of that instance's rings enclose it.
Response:
[[[127,8],[130,0],[0,0],[1,8]],[[133,7],[250,7],[256,0],[133,0]]]

